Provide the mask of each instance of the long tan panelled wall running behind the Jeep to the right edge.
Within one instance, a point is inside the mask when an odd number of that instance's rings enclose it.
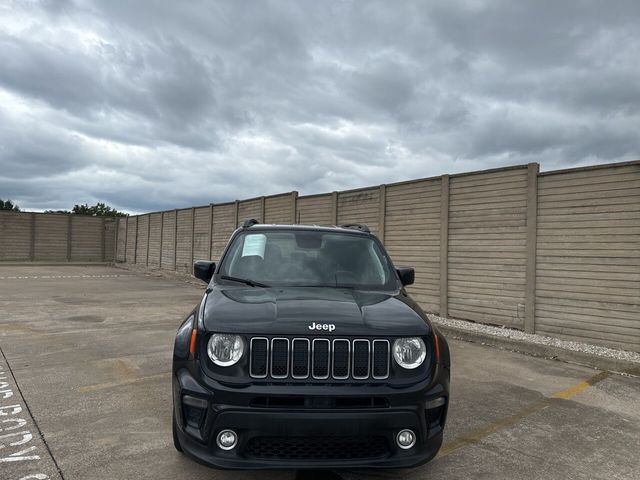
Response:
[[[428,312],[640,351],[640,161],[156,212],[120,220],[117,259],[190,272],[193,260],[219,259],[246,218],[366,223],[396,265],[416,268],[409,291]]]

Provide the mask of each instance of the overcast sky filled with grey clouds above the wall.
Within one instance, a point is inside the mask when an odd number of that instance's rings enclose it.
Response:
[[[0,198],[129,212],[640,158],[640,2],[0,3]]]

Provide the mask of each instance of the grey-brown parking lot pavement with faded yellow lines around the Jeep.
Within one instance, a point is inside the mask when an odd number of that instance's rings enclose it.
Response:
[[[171,349],[202,288],[0,266],[0,478],[640,479],[640,378],[451,341],[439,457],[413,470],[224,472],[171,441]]]

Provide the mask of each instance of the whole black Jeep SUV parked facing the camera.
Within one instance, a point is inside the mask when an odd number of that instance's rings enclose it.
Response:
[[[442,444],[449,349],[365,225],[236,230],[173,354],[173,438],[218,468],[410,467]]]

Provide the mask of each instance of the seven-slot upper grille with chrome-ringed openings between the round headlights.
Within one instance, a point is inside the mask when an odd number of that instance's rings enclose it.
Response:
[[[254,337],[249,373],[276,380],[382,380],[389,377],[389,354],[386,339]]]

